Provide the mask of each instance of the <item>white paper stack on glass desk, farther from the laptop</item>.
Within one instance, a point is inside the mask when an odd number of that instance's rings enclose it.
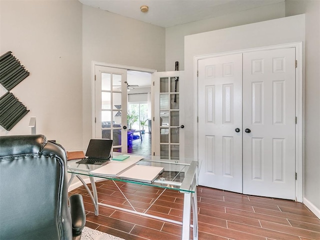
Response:
[[[118,175],[121,179],[152,183],[162,173],[163,167],[134,165]]]

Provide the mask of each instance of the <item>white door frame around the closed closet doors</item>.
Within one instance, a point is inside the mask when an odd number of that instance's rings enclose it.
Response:
[[[193,57],[193,79],[194,79],[194,158],[198,159],[198,60],[209,57],[217,57],[235,53],[244,53],[249,51],[271,50],[279,48],[295,47],[295,59],[297,65],[295,68],[295,200],[303,201],[303,161],[304,161],[304,82],[303,82],[303,54],[302,42],[292,42],[263,47],[247,48],[234,51],[226,51]]]

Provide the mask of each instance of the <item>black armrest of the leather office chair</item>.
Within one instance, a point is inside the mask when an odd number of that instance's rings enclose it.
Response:
[[[77,236],[85,225],[85,210],[83,199],[80,194],[69,196],[70,213],[72,219],[72,235]]]

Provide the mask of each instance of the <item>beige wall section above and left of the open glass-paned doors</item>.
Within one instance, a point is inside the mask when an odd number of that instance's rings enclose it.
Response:
[[[92,137],[92,60],[163,71],[164,48],[163,27],[82,6],[84,145]]]

